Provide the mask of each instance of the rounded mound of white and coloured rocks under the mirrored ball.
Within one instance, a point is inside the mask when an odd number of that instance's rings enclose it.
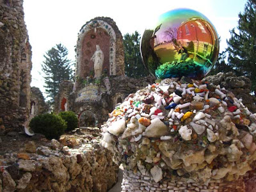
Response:
[[[148,85],[116,106],[102,130],[102,145],[126,170],[124,191],[132,177],[152,180],[151,187],[132,184],[139,191],[173,189],[166,180],[185,183],[182,189],[199,185],[199,191],[239,180],[243,189],[241,176],[254,169],[255,115],[232,92],[206,81],[182,77]],[[210,183],[216,188],[207,188]]]

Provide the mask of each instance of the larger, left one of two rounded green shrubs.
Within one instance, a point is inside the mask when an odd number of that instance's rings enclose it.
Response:
[[[32,118],[29,127],[51,140],[60,138],[67,129],[67,123],[60,116],[48,113]]]

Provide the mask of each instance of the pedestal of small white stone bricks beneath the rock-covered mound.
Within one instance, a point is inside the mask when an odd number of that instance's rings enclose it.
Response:
[[[140,172],[134,174],[132,171],[124,170],[124,179],[122,181],[122,192],[243,192],[245,186],[242,178],[228,182],[223,180],[208,180],[204,184],[192,182],[192,180],[180,179],[163,179],[161,182],[155,182],[150,175],[141,175]]]

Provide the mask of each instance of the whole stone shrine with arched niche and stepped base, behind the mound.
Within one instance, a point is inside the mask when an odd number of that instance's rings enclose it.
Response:
[[[96,47],[104,55],[98,79],[94,78],[93,56]],[[124,76],[122,34],[109,17],[96,17],[86,22],[80,30],[76,82],[74,86],[70,81],[60,84],[54,111],[74,111],[79,117],[80,127],[100,126],[118,102],[122,102],[129,93],[153,82],[153,77],[138,80]]]

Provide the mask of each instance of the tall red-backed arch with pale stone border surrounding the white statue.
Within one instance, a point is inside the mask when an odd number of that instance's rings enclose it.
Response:
[[[99,34],[106,38],[97,40]],[[90,72],[94,72],[91,58],[96,51],[95,45],[99,45],[104,53],[102,74],[107,76],[124,76],[125,74],[122,33],[119,31],[113,19],[109,17],[96,17],[84,24],[77,38],[76,83],[74,84],[73,92],[81,88],[80,86],[86,80],[86,77],[93,75]]]

